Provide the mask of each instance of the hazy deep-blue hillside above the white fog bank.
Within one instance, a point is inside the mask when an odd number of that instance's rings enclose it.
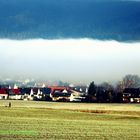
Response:
[[[140,2],[0,0],[0,38],[140,40]]]

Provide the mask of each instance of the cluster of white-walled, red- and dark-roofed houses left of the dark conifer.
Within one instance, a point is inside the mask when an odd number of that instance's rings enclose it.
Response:
[[[87,87],[48,86],[18,87],[0,86],[0,99],[35,101],[84,101]]]

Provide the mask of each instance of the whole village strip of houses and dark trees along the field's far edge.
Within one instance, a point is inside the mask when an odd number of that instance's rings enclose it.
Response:
[[[97,86],[34,86],[13,87],[0,85],[0,100],[140,103],[140,88],[115,89],[109,85]]]

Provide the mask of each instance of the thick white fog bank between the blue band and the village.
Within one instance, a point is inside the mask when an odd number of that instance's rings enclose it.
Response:
[[[1,78],[71,82],[140,75],[140,43],[92,39],[0,40]]]

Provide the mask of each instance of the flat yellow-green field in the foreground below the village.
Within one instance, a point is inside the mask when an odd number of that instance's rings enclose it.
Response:
[[[0,101],[0,140],[16,139],[139,140],[140,104]]]

